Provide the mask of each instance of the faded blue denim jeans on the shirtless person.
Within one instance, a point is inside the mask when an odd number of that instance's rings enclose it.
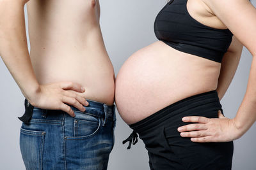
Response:
[[[20,128],[20,152],[28,170],[107,169],[114,145],[115,105],[87,100],[76,117],[61,110],[33,108]]]

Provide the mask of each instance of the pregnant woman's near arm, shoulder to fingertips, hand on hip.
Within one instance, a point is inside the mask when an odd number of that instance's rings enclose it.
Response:
[[[256,120],[256,9],[250,2],[245,0],[203,0],[202,2],[246,46],[253,59],[246,93],[236,117],[226,118],[221,113],[219,113],[219,118],[184,117],[182,121],[196,124],[179,127],[178,131],[181,132],[180,136],[191,138],[191,141],[194,142],[233,141],[241,138]],[[237,15],[237,11],[239,11],[239,15]],[[227,83],[223,82],[226,74],[224,73],[220,77],[221,81],[220,85],[218,85],[218,90],[222,94],[225,94],[228,87]]]

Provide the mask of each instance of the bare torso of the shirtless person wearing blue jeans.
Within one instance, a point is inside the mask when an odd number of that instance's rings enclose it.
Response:
[[[30,57],[39,83],[80,83],[86,91],[79,95],[111,105],[115,74],[99,13],[99,0],[29,1]]]

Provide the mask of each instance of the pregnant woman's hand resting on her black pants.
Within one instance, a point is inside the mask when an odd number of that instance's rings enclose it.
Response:
[[[184,125],[178,128],[180,136],[191,138],[193,142],[228,142],[242,136],[236,128],[234,119],[226,118],[218,113],[219,118],[184,117],[183,122],[197,124]]]

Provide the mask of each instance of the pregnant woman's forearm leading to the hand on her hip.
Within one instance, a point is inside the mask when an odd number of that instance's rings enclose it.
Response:
[[[256,57],[253,57],[249,80],[243,101],[234,118],[234,123],[244,134],[256,121]]]

